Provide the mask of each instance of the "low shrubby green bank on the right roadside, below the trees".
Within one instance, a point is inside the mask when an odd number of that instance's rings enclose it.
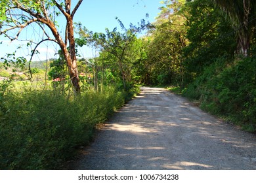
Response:
[[[205,110],[225,116],[247,131],[256,131],[256,59],[219,58],[183,95],[199,100]]]

